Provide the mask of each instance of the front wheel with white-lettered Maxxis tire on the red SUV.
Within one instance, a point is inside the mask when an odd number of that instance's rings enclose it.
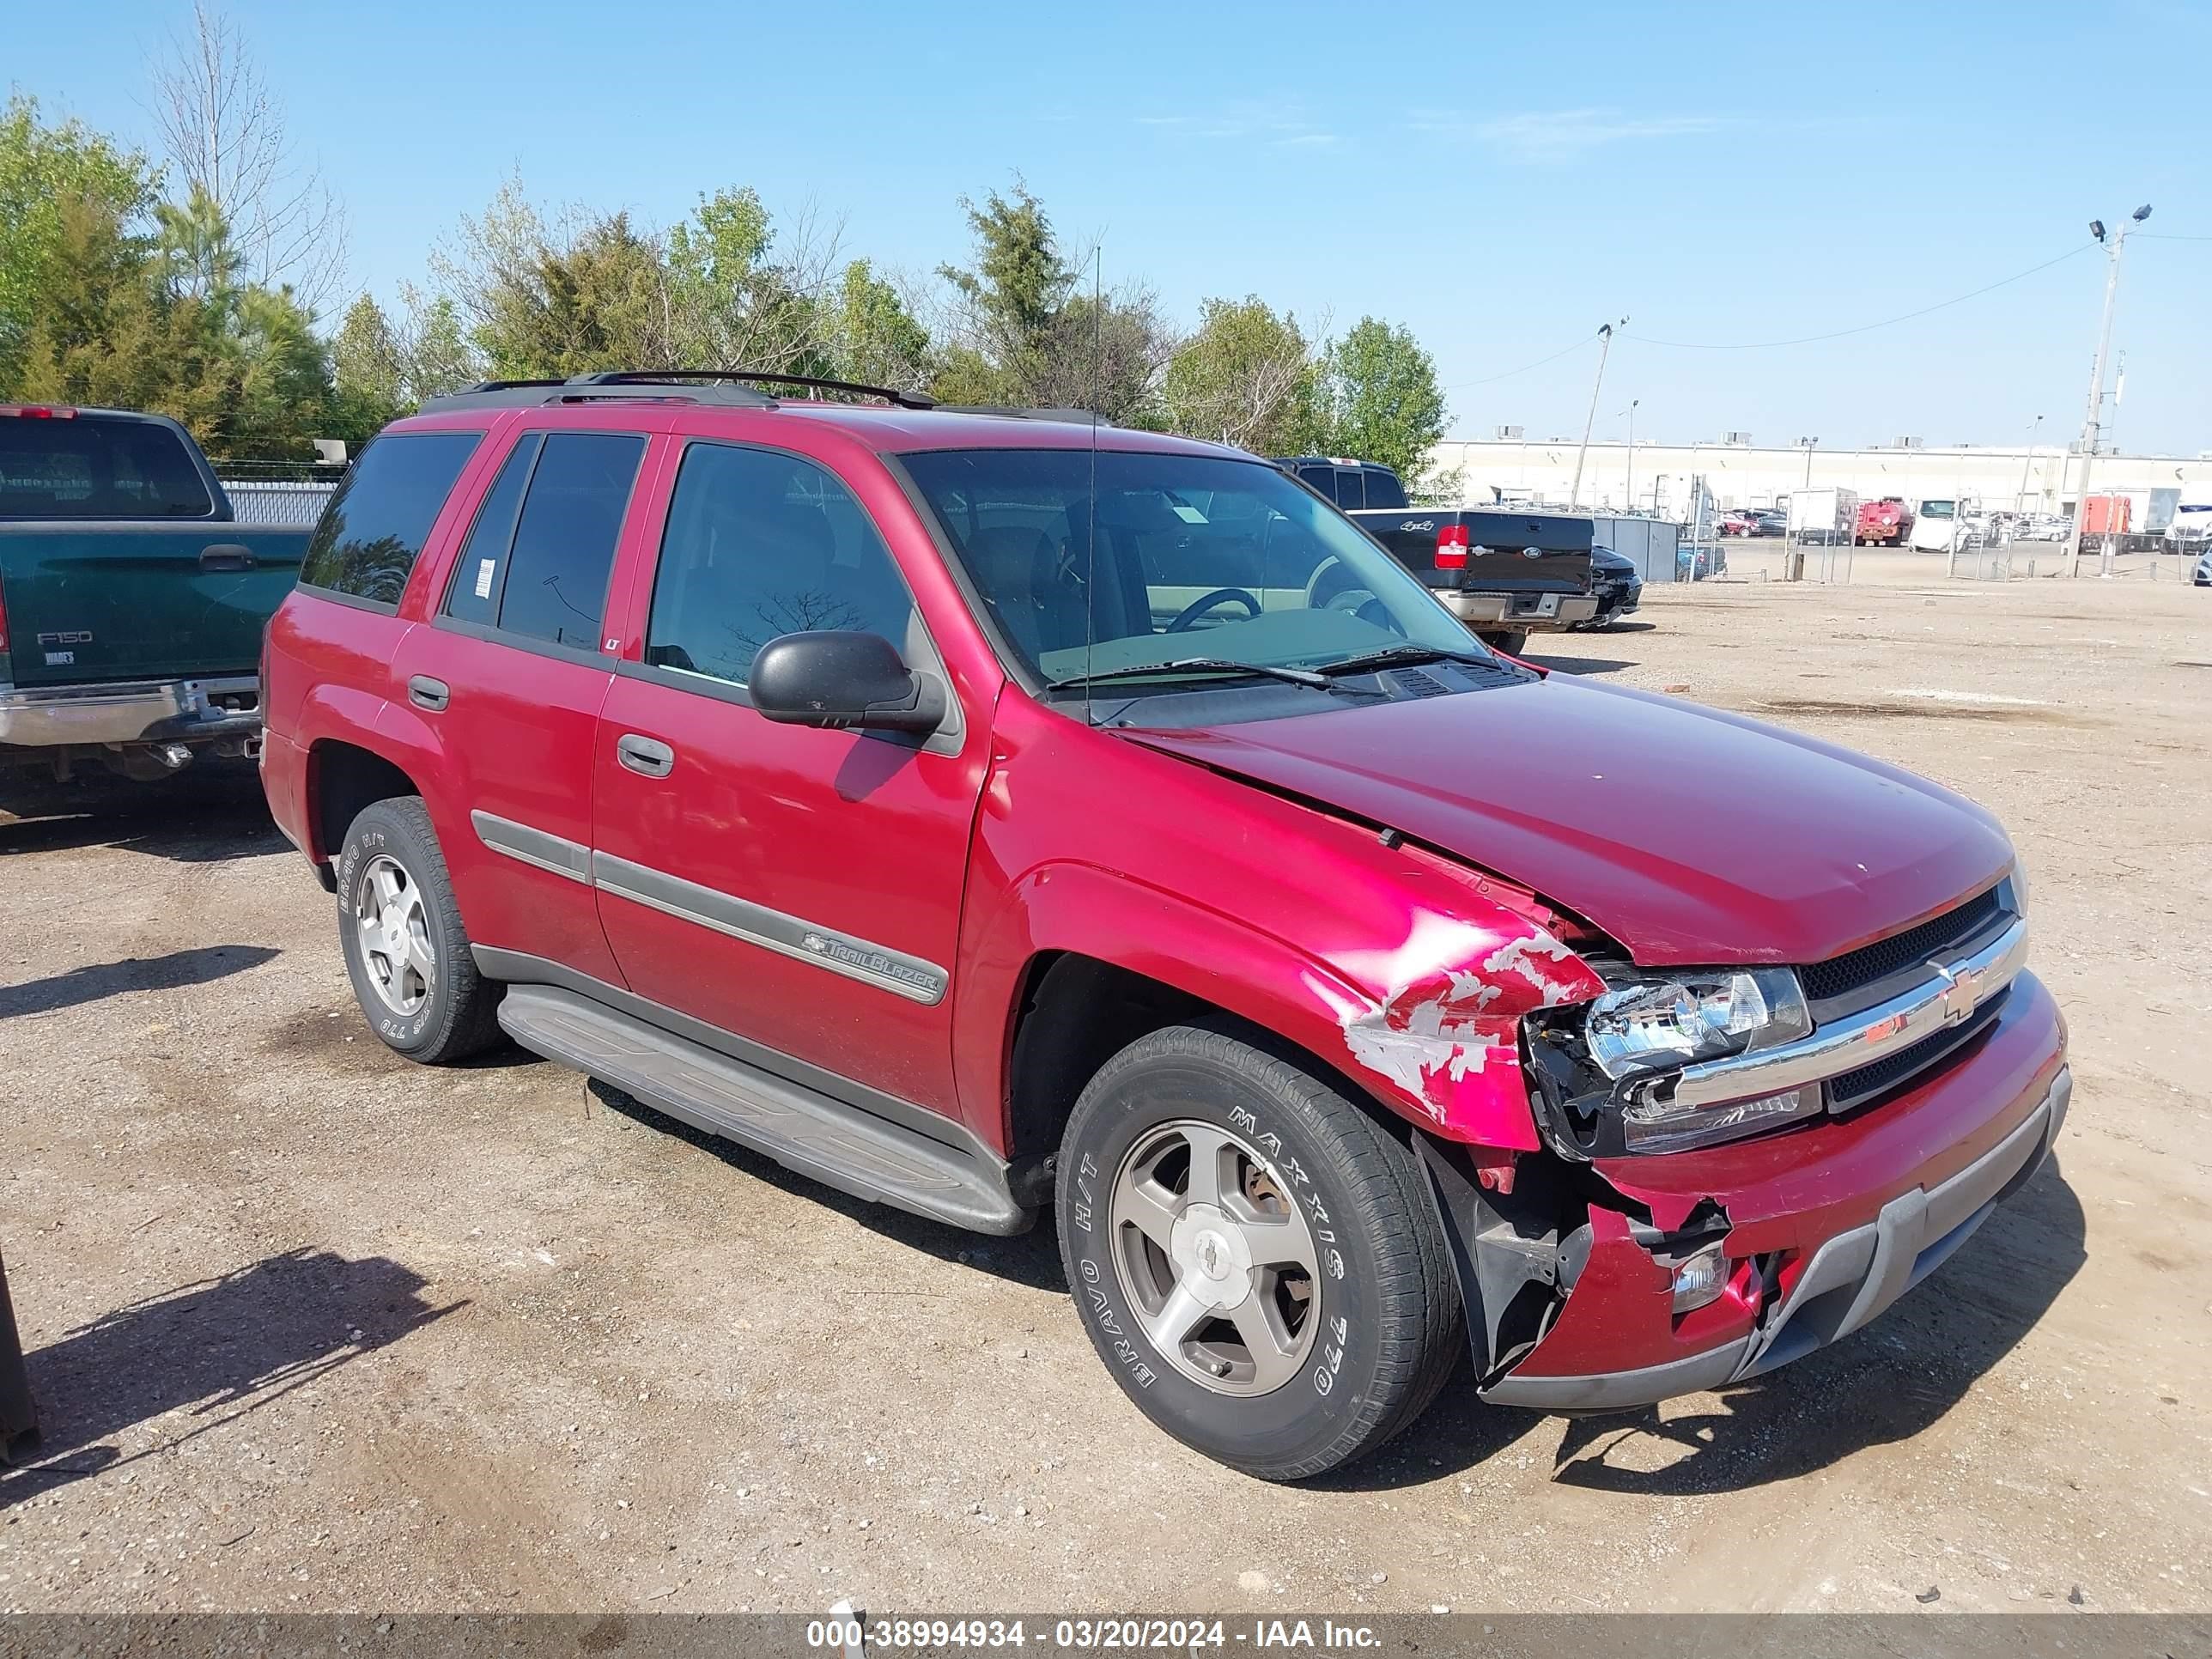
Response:
[[[1310,1071],[1170,1026],[1108,1060],[1060,1150],[1060,1254],[1115,1383],[1194,1451],[1303,1480],[1413,1422],[1460,1298],[1413,1150]]]

